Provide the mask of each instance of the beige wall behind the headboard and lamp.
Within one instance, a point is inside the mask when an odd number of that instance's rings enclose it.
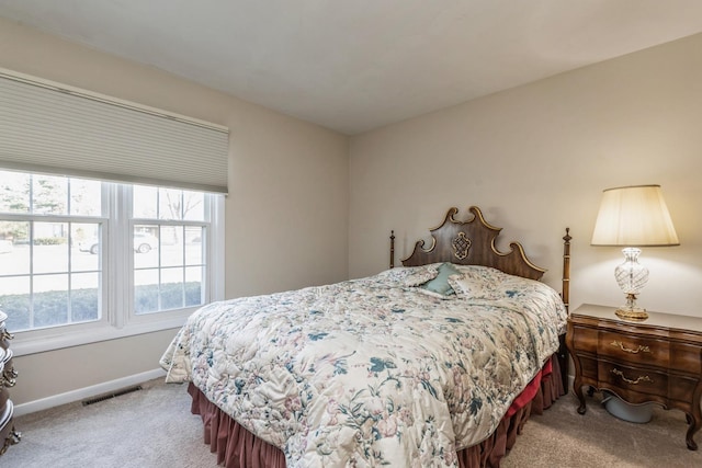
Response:
[[[450,206],[477,205],[558,289],[569,226],[571,304],[619,305],[621,252],[589,246],[600,194],[657,183],[681,246],[644,249],[639,304],[702,317],[701,49],[692,36],[353,137],[350,276],[386,267],[390,229],[404,258]]]

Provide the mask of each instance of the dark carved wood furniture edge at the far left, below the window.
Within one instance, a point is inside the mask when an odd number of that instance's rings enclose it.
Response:
[[[12,340],[12,334],[4,327],[7,318],[8,316],[0,311],[0,455],[4,454],[10,445],[20,442],[22,436],[14,430],[12,419],[14,407],[8,390],[14,386],[18,373],[12,366],[12,351],[9,341]]]

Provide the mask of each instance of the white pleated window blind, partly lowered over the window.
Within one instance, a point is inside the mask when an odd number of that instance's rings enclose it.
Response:
[[[0,69],[0,167],[227,193],[226,127]]]

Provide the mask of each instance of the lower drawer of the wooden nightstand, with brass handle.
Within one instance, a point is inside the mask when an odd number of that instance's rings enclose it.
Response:
[[[668,375],[652,369],[600,361],[598,374],[600,383],[622,390],[661,397],[668,392]]]

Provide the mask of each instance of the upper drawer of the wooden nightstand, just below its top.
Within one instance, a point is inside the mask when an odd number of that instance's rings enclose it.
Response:
[[[611,331],[600,331],[597,352],[601,356],[647,366],[666,368],[670,363],[669,342]]]

